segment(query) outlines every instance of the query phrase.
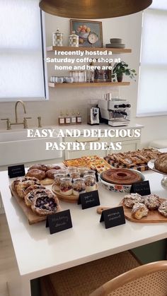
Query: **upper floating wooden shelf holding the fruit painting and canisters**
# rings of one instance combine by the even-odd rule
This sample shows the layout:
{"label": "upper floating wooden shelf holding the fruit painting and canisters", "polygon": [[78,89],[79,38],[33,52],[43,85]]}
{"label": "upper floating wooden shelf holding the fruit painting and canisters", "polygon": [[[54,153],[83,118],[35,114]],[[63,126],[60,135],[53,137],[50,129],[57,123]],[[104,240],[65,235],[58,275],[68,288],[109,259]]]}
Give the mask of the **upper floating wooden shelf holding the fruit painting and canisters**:
{"label": "upper floating wooden shelf holding the fruit painting and canisters", "polygon": [[108,52],[113,52],[113,54],[128,54],[132,52],[132,49],[129,48],[105,48],[105,47],[69,47],[69,46],[62,46],[62,47],[57,47],[57,46],[50,46],[47,47],[47,52],[54,52],[55,50],[61,51],[61,52],[74,52],[76,50],[81,50],[81,51],[88,51],[88,52],[95,52],[95,51],[100,51],[100,52],[105,52],[105,50],[108,50]]}

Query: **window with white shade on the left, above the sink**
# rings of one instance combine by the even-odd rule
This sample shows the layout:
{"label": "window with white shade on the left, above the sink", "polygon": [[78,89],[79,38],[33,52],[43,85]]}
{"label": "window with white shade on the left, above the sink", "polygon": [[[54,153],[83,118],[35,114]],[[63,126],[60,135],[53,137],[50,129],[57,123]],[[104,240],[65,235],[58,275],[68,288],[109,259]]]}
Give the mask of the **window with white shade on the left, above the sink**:
{"label": "window with white shade on the left, above the sink", "polygon": [[46,97],[38,0],[0,0],[0,101]]}

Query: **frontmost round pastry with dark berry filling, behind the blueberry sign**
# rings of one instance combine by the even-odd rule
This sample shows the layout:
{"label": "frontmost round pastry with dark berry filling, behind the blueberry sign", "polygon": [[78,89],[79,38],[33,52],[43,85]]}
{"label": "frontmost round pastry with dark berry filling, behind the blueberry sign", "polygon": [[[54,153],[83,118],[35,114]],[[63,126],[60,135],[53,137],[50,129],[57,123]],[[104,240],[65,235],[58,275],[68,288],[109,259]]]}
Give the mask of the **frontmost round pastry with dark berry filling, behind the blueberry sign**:
{"label": "frontmost round pastry with dark berry filling, behind the blueberry sign", "polygon": [[31,208],[38,215],[50,215],[57,212],[58,205],[59,201],[54,194],[44,192],[35,195]]}

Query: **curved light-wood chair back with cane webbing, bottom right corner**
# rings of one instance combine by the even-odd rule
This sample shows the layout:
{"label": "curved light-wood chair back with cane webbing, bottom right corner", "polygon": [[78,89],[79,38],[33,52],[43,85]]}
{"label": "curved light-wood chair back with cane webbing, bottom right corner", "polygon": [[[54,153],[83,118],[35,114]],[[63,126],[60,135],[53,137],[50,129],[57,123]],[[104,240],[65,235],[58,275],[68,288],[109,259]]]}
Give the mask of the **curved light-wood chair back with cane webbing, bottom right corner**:
{"label": "curved light-wood chair back with cane webbing, bottom right corner", "polygon": [[166,296],[167,261],[145,264],[100,286],[90,296]]}

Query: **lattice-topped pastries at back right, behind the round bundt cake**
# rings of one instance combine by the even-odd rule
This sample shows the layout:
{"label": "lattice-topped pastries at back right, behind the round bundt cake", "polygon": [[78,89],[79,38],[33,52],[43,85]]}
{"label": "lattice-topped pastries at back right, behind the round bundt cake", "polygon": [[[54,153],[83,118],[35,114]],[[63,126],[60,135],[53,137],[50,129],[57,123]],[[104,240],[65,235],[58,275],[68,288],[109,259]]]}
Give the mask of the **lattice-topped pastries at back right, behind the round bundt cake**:
{"label": "lattice-topped pastries at back right, behind the round bundt cake", "polygon": [[124,153],[113,153],[105,157],[105,160],[113,167],[136,168],[148,170],[147,162],[157,158],[162,153],[153,148]]}

